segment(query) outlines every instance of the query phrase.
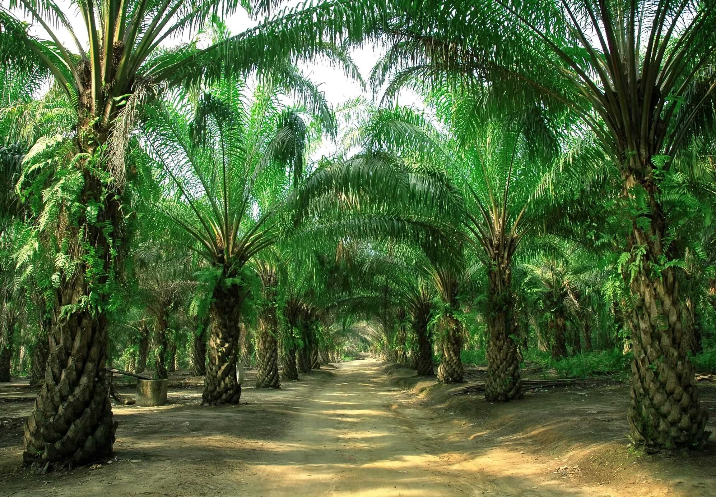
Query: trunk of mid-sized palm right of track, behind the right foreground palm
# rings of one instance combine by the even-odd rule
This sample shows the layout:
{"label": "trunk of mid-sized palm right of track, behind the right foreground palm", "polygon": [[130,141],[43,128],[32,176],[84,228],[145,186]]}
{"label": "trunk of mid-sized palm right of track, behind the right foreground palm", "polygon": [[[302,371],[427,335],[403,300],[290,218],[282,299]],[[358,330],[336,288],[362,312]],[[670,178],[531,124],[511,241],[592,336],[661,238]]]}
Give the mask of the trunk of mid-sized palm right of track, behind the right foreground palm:
{"label": "trunk of mid-sized palm right of track, behind the right foreground palm", "polygon": [[509,268],[488,272],[487,321],[490,339],[485,350],[488,360],[485,399],[490,402],[513,400],[523,395],[520,358],[517,344],[513,340],[515,322],[512,316],[514,302],[511,277]]}

